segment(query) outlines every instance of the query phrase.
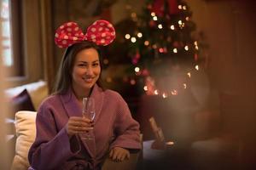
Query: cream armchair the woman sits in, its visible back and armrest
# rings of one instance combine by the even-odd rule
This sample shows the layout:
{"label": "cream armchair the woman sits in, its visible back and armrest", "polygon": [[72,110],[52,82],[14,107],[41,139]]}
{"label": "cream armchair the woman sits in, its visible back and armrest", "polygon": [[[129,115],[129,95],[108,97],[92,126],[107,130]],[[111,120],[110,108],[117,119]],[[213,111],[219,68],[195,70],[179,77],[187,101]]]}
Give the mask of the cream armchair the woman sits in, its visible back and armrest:
{"label": "cream armchair the woman sits in, its visible back and armrest", "polygon": [[[15,130],[16,134],[12,140],[15,144],[15,156],[12,162],[12,170],[25,170],[29,167],[27,154],[36,136],[36,111],[18,111],[15,114]],[[131,153],[129,160],[122,162],[111,161],[107,158],[104,162],[102,170],[125,169],[132,170],[138,168],[138,161],[141,158],[142,151]]]}

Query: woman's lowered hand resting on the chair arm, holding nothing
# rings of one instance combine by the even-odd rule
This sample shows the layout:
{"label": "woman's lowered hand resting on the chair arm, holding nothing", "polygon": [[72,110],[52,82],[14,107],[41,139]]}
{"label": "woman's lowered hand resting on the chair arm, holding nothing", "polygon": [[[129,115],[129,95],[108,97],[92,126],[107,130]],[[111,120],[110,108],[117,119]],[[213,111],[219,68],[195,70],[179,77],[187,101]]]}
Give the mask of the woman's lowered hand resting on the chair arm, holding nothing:
{"label": "woman's lowered hand resting on the chair arm, holding nothing", "polygon": [[113,161],[124,161],[125,159],[130,159],[130,152],[129,150],[125,150],[124,148],[114,147],[110,151],[109,157]]}

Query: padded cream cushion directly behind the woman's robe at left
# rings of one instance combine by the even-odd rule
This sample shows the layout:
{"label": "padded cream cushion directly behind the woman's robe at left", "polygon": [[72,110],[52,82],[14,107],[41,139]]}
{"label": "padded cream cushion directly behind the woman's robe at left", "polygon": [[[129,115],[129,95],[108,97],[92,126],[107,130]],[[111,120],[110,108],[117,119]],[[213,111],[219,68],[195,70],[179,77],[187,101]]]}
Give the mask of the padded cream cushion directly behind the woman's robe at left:
{"label": "padded cream cushion directly behind the woman's robe at left", "polygon": [[18,111],[15,114],[16,145],[12,170],[25,170],[29,167],[28,150],[36,138],[36,111]]}

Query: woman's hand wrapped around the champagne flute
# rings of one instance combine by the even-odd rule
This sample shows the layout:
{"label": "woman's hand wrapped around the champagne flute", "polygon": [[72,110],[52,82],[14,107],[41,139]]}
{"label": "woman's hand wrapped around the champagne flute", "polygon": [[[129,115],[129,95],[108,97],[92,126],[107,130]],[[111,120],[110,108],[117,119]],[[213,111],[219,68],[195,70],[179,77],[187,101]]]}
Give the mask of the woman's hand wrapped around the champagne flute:
{"label": "woman's hand wrapped around the champagne flute", "polygon": [[74,134],[88,132],[93,129],[90,119],[80,116],[71,116],[66,124],[67,135],[71,138]]}

